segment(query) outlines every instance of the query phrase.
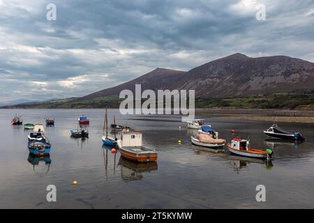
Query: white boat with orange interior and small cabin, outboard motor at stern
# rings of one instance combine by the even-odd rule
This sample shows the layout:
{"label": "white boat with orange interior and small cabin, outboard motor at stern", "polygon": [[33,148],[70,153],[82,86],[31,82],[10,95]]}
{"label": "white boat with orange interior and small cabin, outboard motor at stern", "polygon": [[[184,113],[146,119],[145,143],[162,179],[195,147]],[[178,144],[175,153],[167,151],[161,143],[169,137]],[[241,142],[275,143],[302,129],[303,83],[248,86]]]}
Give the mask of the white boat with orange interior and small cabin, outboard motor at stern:
{"label": "white boat with orange interior and small cabin, outboard motor at stern", "polygon": [[231,144],[227,144],[227,148],[230,153],[246,157],[271,160],[271,156],[273,155],[273,151],[271,151],[270,149],[267,149],[266,151],[261,151],[255,148],[251,148],[250,141],[246,139],[233,139],[231,141]]}

